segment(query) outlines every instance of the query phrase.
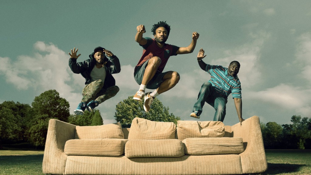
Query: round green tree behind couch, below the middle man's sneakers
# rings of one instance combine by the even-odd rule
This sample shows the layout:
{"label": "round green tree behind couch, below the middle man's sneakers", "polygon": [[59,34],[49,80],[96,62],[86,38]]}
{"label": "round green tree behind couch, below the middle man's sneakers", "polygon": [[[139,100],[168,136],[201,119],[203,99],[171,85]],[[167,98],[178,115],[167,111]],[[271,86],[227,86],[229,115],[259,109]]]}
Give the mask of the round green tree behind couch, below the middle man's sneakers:
{"label": "round green tree behind couch, below the middle man's sneakers", "polygon": [[131,127],[135,117],[145,118],[156,122],[174,122],[180,120],[173,113],[169,114],[169,107],[164,107],[158,99],[154,99],[148,113],[144,111],[142,102],[133,99],[133,96],[124,99],[116,105],[114,118],[122,127]]}

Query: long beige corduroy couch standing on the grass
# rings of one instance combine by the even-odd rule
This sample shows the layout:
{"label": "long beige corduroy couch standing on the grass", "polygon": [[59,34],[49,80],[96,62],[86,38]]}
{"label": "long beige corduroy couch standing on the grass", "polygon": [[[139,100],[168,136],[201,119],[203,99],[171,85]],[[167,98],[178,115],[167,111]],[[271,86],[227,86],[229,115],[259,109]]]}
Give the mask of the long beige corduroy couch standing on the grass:
{"label": "long beige corduroy couch standing on the grass", "polygon": [[[119,124],[102,125],[101,128],[78,127],[51,119],[44,150],[43,173],[208,175],[262,173],[267,169],[257,116],[246,119],[242,126],[240,123],[219,126],[217,122],[182,121],[177,129],[170,122],[134,120],[131,128],[121,128],[120,133],[114,130],[115,126],[120,127]],[[186,126],[189,124],[187,122],[190,125]],[[165,125],[162,126],[163,123]],[[205,125],[205,128],[200,125]],[[186,133],[189,126],[198,128],[198,133]],[[221,133],[221,130],[224,132]],[[106,135],[109,131],[113,132],[113,136]],[[206,134],[203,132],[208,132],[212,137],[196,135]]]}

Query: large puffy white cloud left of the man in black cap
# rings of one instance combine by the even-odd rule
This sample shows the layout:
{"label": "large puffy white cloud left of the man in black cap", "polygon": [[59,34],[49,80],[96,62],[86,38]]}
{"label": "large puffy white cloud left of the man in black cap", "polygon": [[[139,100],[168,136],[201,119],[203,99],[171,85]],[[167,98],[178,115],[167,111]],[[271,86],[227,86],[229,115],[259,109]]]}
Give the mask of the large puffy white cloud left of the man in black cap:
{"label": "large puffy white cloud left of the man in black cap", "polygon": [[34,89],[43,93],[55,89],[70,106],[77,105],[81,95],[74,90],[77,86],[82,90],[84,79],[73,75],[68,67],[68,55],[52,43],[38,41],[34,48],[33,56],[20,55],[15,61],[0,57],[0,73],[6,81],[19,90]]}

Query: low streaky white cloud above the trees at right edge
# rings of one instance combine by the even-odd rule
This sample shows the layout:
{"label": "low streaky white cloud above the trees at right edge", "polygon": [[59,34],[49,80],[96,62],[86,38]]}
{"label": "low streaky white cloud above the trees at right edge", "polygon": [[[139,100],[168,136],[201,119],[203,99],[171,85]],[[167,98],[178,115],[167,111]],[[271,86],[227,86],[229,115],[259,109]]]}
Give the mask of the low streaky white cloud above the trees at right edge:
{"label": "low streaky white cloud above the trees at right edge", "polygon": [[310,93],[311,89],[303,90],[297,86],[280,84],[266,90],[249,92],[247,96],[308,116],[311,113],[311,99],[306,94]]}

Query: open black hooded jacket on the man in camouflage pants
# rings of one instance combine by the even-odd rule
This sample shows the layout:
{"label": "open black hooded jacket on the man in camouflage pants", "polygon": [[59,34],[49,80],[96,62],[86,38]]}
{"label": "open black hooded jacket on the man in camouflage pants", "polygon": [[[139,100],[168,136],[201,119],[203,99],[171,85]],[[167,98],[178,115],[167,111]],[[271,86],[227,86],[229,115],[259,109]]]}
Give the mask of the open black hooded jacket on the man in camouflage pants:
{"label": "open black hooded jacket on the man in camouflage pants", "polygon": [[[85,78],[85,84],[88,85],[92,82],[91,71],[95,66],[94,52],[89,55],[90,59],[85,60],[84,62],[77,62],[76,58],[69,58],[69,67],[73,73],[81,74]],[[107,62],[105,65],[106,78],[104,81],[103,89],[107,89],[115,85],[114,77],[111,74],[119,73],[121,71],[121,66],[119,58],[113,55],[109,57],[110,60],[105,56],[104,62]]]}

